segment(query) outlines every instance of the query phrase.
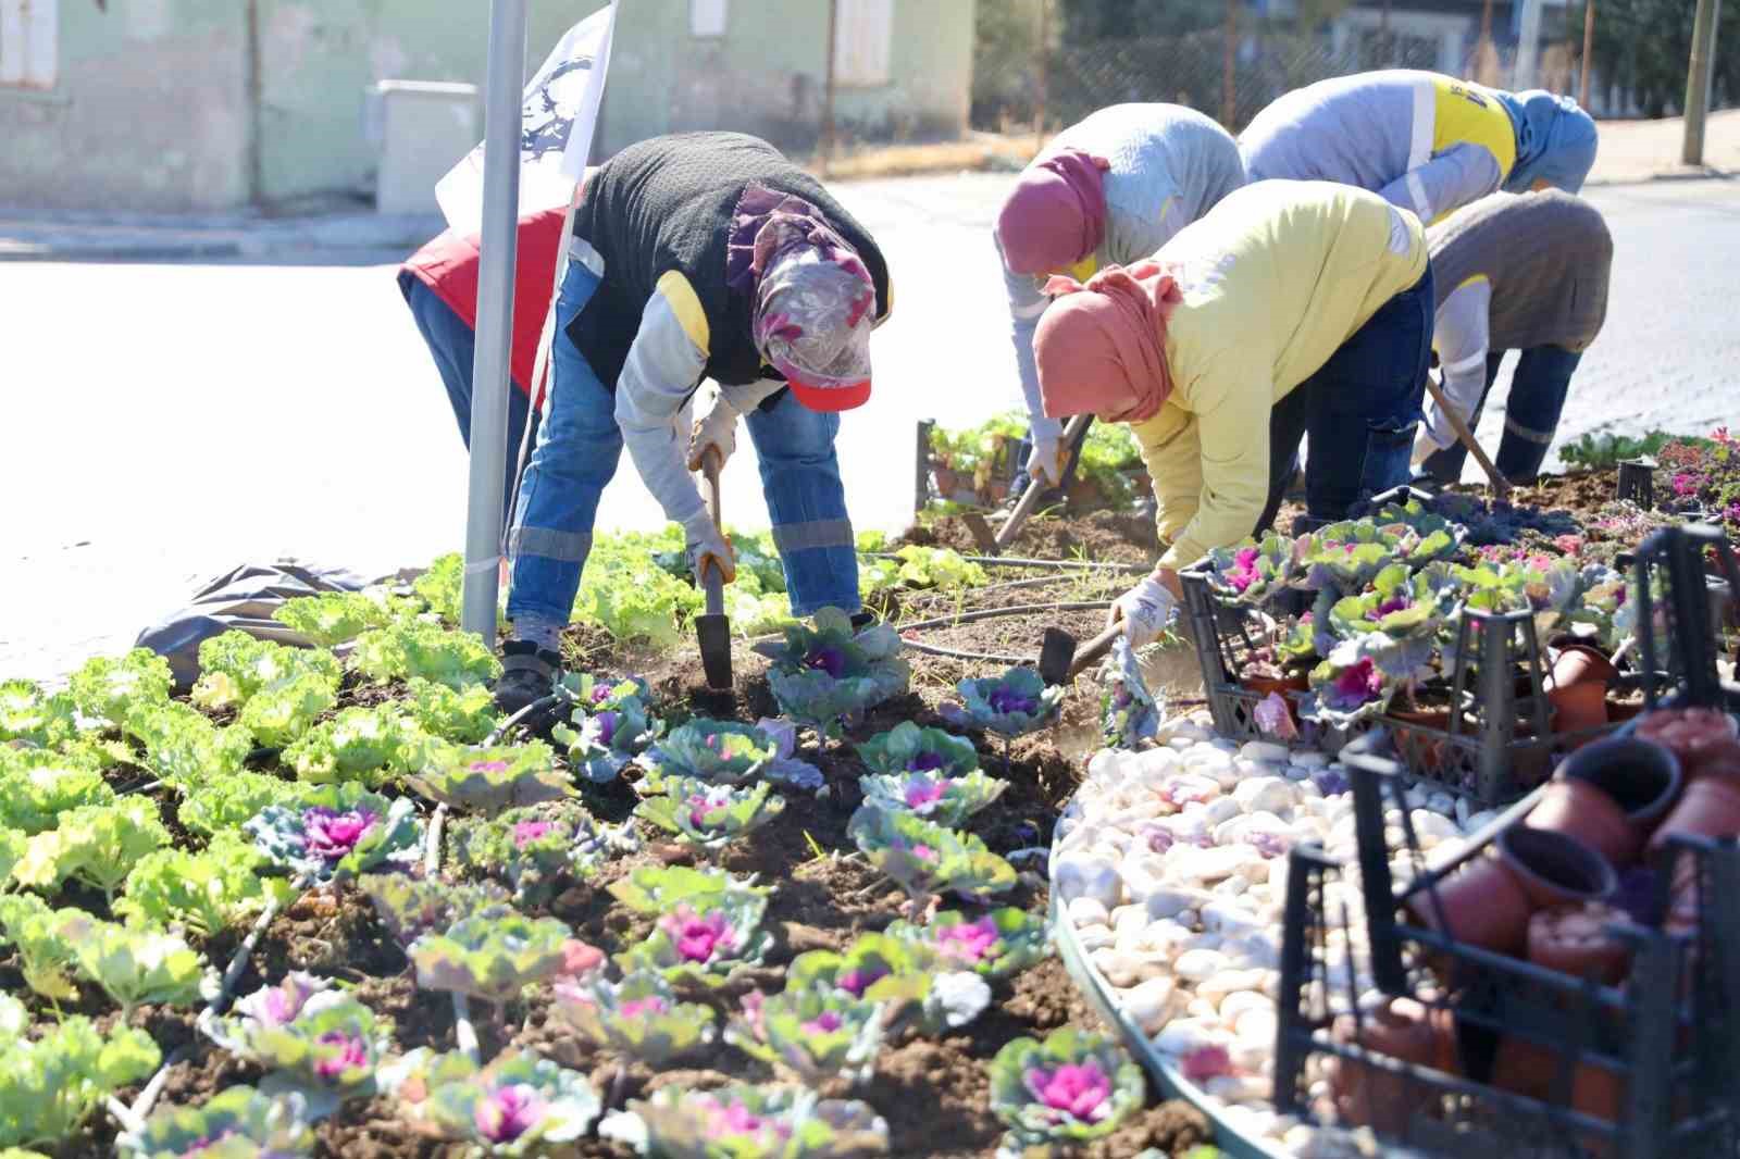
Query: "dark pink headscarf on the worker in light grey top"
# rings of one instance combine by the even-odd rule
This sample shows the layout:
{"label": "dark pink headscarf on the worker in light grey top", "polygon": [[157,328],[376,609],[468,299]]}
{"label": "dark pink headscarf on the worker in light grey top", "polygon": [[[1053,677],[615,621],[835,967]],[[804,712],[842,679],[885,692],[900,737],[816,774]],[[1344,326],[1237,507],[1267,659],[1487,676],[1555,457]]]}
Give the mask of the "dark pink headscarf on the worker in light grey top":
{"label": "dark pink headscarf on the worker in light grey top", "polygon": [[1063,148],[1021,172],[997,214],[997,240],[1011,273],[1075,265],[1105,240],[1105,171],[1112,162]]}

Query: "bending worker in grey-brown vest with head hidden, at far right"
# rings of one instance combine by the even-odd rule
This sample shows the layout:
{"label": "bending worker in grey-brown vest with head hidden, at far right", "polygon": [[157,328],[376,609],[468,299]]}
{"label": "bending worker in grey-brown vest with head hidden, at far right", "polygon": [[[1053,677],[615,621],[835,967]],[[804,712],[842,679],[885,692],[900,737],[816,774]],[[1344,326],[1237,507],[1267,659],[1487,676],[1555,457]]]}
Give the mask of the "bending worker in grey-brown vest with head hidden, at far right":
{"label": "bending worker in grey-brown vest with head hidden, at far right", "polygon": [[[1608,317],[1608,223],[1589,202],[1557,190],[1496,193],[1427,230],[1427,244],[1444,399],[1474,430],[1505,352],[1521,350],[1495,466],[1512,482],[1531,480],[1559,428],[1571,374]],[[1434,405],[1415,463],[1439,482],[1456,482],[1465,456]]]}

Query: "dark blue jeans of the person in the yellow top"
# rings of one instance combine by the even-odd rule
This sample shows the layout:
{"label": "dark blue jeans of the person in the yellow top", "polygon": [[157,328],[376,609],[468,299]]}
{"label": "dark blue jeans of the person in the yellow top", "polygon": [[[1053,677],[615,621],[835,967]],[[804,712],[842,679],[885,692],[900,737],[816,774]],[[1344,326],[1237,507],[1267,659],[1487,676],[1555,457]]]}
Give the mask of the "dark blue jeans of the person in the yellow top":
{"label": "dark blue jeans of the person in the yellow top", "polygon": [[1427,266],[1268,412],[1268,503],[1258,531],[1274,524],[1307,433],[1305,508],[1314,522],[1345,519],[1357,499],[1408,482],[1430,358]]}

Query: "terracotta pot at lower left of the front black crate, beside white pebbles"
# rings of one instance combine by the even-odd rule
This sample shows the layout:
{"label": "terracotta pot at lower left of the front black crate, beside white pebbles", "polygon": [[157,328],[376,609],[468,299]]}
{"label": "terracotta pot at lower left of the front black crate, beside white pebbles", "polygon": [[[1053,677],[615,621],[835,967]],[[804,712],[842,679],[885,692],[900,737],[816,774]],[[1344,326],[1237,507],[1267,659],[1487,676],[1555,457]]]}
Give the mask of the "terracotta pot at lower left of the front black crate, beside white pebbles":
{"label": "terracotta pot at lower left of the front black crate, beside white pebbles", "polygon": [[[1430,1067],[1444,1074],[1462,1074],[1456,1060],[1456,1020],[1448,1009],[1422,1006],[1413,999],[1390,999],[1373,1009],[1362,1023],[1350,1015],[1335,1020],[1340,1042],[1354,1042],[1376,1055]],[[1402,1135],[1432,1093],[1406,1077],[1338,1060],[1329,1077],[1342,1117],[1369,1126],[1383,1135]]]}

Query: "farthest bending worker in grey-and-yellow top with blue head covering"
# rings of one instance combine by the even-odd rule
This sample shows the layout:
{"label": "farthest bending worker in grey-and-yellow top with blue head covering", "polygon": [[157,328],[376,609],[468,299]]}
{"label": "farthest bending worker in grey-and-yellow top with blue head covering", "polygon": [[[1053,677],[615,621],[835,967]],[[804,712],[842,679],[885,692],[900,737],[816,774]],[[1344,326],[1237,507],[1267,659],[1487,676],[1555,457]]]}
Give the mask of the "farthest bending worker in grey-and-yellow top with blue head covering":
{"label": "farthest bending worker in grey-and-yellow top with blue head covering", "polygon": [[1596,122],[1571,97],[1413,70],[1295,89],[1239,134],[1251,181],[1340,181],[1437,221],[1495,190],[1575,193]]}

